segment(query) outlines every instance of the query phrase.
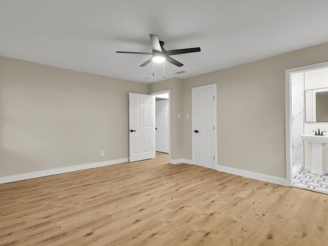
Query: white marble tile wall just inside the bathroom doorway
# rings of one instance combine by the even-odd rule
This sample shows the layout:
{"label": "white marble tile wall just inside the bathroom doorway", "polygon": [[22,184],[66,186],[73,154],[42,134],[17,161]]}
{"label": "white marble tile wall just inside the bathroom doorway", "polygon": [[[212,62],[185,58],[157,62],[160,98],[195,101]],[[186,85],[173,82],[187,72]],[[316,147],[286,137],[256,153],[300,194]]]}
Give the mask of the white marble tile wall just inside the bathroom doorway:
{"label": "white marble tile wall just inside the bathroom doorway", "polygon": [[292,74],[293,166],[304,165],[304,72]]}

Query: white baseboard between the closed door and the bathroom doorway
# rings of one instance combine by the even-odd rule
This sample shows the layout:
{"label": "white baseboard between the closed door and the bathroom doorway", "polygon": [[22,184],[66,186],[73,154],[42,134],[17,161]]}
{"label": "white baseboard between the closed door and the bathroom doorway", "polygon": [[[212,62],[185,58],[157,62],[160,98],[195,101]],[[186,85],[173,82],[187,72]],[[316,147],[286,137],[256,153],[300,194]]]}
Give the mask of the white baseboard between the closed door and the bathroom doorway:
{"label": "white baseboard between the closed door and the bathroom doorway", "polygon": [[235,174],[242,177],[253,178],[265,182],[276,183],[277,185],[281,185],[281,186],[288,186],[287,180],[284,178],[278,178],[278,177],[273,177],[273,176],[259,174],[259,173],[252,173],[240,169],[228,168],[223,166],[217,166],[216,170],[224,173]]}

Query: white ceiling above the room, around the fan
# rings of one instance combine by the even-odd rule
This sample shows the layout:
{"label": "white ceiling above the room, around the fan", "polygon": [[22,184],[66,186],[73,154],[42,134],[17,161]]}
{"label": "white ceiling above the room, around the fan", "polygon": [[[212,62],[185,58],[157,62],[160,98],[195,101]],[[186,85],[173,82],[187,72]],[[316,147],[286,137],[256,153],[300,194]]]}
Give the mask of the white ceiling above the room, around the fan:
{"label": "white ceiling above the room, around the fan", "polygon": [[[328,1],[1,1],[0,55],[153,83],[162,65],[139,67],[149,34],[174,55],[165,78],[188,78],[328,42]],[[186,73],[176,74],[176,72]],[[148,79],[146,79],[148,78]]]}

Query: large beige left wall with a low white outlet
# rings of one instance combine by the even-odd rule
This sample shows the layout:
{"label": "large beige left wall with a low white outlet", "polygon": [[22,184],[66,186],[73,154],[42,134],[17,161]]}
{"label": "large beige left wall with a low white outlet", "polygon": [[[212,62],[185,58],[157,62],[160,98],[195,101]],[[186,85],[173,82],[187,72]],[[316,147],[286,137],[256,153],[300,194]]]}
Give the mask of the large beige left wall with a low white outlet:
{"label": "large beige left wall with a low white outlet", "polygon": [[148,87],[0,57],[0,177],[127,158],[129,92]]}

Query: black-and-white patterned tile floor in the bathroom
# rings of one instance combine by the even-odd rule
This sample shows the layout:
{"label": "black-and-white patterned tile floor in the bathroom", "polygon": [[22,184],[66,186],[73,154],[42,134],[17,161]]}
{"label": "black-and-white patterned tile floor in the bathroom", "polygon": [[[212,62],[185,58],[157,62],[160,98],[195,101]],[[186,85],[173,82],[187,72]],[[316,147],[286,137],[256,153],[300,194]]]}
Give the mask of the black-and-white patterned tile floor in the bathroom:
{"label": "black-and-white patterned tile floor in the bathroom", "polygon": [[293,178],[293,186],[328,194],[328,174],[317,175],[308,170],[302,170]]}

